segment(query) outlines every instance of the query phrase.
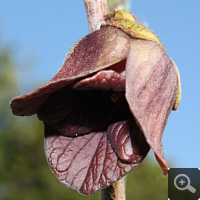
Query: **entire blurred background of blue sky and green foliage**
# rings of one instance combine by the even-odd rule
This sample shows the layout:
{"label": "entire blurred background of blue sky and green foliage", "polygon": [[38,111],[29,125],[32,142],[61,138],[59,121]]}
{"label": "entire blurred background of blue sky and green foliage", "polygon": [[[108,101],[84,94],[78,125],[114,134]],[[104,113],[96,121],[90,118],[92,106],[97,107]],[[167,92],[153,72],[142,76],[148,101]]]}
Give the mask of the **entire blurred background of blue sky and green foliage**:
{"label": "entire blurred background of blue sky and green foliage", "polygon": [[[182,99],[163,135],[171,167],[200,167],[200,2],[127,1],[176,62]],[[16,117],[10,100],[48,82],[70,47],[89,33],[83,1],[0,1],[0,199],[101,199],[61,184],[48,168],[42,122]],[[167,199],[167,177],[152,152],[126,176],[127,200]]]}

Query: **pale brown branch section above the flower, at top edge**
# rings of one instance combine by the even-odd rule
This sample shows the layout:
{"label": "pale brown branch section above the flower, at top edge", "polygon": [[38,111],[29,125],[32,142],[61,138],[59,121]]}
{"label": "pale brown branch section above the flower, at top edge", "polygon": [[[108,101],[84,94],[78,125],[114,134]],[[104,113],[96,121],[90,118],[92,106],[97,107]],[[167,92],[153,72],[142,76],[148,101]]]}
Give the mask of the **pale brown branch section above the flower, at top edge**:
{"label": "pale brown branch section above the flower, at top edge", "polygon": [[100,29],[100,25],[105,21],[105,16],[109,13],[106,0],[84,0],[88,18],[90,33]]}

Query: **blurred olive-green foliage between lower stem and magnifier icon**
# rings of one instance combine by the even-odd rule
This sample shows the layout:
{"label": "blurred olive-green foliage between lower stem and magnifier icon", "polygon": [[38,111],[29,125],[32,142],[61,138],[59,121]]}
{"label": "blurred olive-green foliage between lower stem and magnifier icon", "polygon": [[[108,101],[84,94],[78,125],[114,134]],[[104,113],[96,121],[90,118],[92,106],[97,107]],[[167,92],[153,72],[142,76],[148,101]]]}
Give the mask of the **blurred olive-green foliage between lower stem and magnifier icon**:
{"label": "blurred olive-green foliage between lower stem and magnifier icon", "polygon": [[126,185],[127,200],[166,200],[168,197],[168,178],[148,158],[128,174]]}

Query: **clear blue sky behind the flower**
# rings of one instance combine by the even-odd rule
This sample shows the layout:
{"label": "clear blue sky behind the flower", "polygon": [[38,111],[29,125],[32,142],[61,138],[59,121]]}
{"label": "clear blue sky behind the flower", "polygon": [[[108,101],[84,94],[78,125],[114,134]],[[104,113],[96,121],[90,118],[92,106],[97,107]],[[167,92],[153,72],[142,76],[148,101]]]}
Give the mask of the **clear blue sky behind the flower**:
{"label": "clear blue sky behind the flower", "polygon": [[[131,4],[131,12],[157,34],[181,75],[181,104],[171,113],[162,140],[165,156],[173,167],[200,167],[200,1]],[[81,0],[0,2],[1,42],[14,47],[23,65],[20,94],[51,79],[70,47],[88,33]]]}

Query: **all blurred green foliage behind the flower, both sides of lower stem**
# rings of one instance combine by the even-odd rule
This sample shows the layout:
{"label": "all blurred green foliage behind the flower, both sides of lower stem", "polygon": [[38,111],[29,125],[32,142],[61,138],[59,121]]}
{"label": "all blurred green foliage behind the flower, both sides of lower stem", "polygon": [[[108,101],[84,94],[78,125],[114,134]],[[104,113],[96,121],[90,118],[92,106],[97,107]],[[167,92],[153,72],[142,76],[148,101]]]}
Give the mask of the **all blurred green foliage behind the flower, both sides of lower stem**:
{"label": "all blurred green foliage behind the flower, both sides of lower stem", "polygon": [[[46,162],[42,123],[36,116],[23,118],[12,115],[9,102],[18,93],[16,70],[13,52],[1,44],[0,199],[101,199],[101,192],[85,197],[61,184]],[[126,193],[127,200],[165,200],[167,177],[163,177],[157,164],[146,159],[127,176]]]}

